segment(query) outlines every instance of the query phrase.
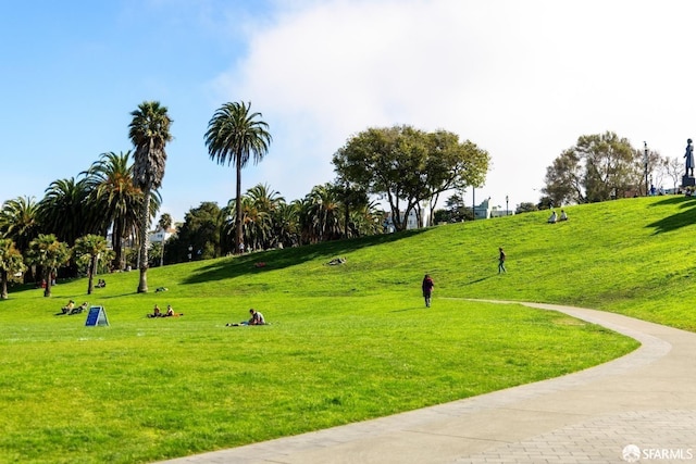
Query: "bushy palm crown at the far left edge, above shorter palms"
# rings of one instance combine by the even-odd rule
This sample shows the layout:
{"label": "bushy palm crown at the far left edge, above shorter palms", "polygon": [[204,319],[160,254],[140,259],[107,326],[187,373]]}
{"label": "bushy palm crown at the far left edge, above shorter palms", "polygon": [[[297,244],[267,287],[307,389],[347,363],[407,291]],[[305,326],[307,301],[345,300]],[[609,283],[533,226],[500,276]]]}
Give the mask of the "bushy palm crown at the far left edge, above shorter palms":
{"label": "bushy palm crown at the far left edge, above shorter palms", "polygon": [[20,252],[29,248],[40,231],[39,208],[34,197],[8,200],[0,210],[0,237],[14,241]]}

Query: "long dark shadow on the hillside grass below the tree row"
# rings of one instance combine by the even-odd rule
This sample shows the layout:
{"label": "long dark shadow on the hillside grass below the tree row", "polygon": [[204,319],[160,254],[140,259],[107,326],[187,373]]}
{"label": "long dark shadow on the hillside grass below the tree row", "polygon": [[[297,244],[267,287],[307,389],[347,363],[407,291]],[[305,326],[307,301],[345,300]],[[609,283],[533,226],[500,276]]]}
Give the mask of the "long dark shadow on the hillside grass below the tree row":
{"label": "long dark shadow on the hillside grass below the tree row", "polygon": [[[219,260],[208,266],[192,273],[184,284],[200,284],[211,280],[222,280],[240,275],[253,275],[271,269],[282,269],[295,266],[308,261],[325,260],[340,256],[362,248],[389,243],[403,238],[413,237],[427,229],[407,230],[402,233],[384,234],[357,239],[336,240],[325,243],[308,244],[284,250],[271,250],[260,253],[250,253],[243,256]],[[259,263],[263,263],[262,266]]]}

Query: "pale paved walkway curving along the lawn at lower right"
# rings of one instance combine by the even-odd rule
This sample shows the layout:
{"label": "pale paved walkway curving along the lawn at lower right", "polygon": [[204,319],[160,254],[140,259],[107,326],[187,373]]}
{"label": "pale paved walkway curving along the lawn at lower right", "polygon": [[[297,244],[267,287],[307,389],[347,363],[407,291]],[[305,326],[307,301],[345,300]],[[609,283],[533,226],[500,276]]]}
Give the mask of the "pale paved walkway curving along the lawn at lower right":
{"label": "pale paved walkway curving along the lawn at lower right", "polygon": [[170,464],[696,463],[696,334],[550,304],[641,341],[563,377]]}

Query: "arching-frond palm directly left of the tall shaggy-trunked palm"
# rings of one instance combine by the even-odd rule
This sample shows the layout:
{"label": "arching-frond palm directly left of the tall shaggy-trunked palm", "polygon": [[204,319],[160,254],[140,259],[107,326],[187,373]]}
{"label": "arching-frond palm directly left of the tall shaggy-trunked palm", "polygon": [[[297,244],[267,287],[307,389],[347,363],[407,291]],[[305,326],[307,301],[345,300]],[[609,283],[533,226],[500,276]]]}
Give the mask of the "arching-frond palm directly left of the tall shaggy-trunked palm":
{"label": "arching-frond palm directly left of the tall shaggy-trunked palm", "polygon": [[102,153],[88,171],[80,174],[86,176],[85,181],[90,190],[89,202],[92,204],[90,210],[96,213],[88,221],[95,223],[97,231],[104,236],[111,228],[113,263],[116,268],[123,269],[123,239],[136,229],[142,202],[140,189],[133,185],[130,151]]}

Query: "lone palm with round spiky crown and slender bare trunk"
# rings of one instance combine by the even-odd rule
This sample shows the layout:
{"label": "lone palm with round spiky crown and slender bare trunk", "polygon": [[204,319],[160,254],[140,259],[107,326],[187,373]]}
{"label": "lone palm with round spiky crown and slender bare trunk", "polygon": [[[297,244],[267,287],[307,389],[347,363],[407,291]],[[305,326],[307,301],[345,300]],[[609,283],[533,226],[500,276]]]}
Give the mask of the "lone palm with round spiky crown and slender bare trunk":
{"label": "lone palm with round spiky crown and slender bare trunk", "polygon": [[235,196],[235,253],[239,252],[241,243],[241,168],[253,156],[253,163],[269,152],[272,137],[269,125],[257,120],[261,113],[250,113],[251,103],[225,103],[208,123],[206,146],[211,160],[217,164],[235,163],[237,174],[237,189]]}

